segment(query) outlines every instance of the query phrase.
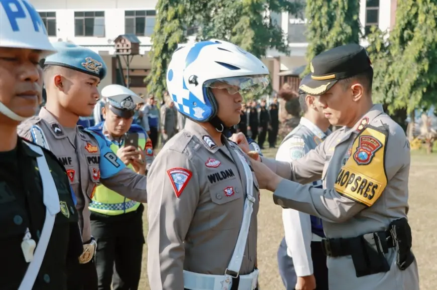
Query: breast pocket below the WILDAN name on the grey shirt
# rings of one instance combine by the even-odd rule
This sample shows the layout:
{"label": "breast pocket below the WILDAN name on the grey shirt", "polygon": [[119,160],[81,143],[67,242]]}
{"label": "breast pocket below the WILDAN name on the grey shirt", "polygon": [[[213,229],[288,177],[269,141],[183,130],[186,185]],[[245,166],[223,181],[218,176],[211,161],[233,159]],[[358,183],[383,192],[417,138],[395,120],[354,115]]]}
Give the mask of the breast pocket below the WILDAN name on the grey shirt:
{"label": "breast pocket below the WILDAN name on the grey shirt", "polygon": [[244,190],[240,180],[227,179],[211,186],[210,197],[209,228],[213,231],[239,228],[244,206]]}

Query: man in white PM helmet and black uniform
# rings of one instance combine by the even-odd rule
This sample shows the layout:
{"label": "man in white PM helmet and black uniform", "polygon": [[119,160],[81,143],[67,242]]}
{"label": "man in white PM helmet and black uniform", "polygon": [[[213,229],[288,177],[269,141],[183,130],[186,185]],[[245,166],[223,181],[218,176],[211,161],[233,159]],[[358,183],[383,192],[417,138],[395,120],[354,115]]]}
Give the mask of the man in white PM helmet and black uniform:
{"label": "man in white PM helmet and black uniform", "polygon": [[0,2],[0,288],[66,290],[82,253],[68,178],[51,152],[17,136],[42,101],[38,62],[56,50],[44,25],[35,29],[42,20],[33,6],[15,4]]}

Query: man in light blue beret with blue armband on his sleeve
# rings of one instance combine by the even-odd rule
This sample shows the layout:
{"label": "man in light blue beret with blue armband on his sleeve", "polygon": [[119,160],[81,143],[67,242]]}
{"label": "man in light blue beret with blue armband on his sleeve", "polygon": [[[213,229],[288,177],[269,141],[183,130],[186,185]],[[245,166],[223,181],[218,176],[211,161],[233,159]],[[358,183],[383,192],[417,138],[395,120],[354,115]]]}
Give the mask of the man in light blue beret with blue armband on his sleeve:
{"label": "man in light blue beret with blue armband on his sleeve", "polygon": [[89,201],[102,183],[131,200],[146,202],[146,177],[126,168],[108,147],[110,142],[76,127],[79,116],[89,116],[99,98],[97,84],[106,74],[101,57],[70,43],[57,42],[54,46],[58,52],[47,57],[44,66],[46,106],[38,116],[21,123],[18,133],[51,150],[66,168],[77,197],[84,242],[81,265],[68,285],[79,283],[84,289],[96,289],[96,243],[91,237]]}

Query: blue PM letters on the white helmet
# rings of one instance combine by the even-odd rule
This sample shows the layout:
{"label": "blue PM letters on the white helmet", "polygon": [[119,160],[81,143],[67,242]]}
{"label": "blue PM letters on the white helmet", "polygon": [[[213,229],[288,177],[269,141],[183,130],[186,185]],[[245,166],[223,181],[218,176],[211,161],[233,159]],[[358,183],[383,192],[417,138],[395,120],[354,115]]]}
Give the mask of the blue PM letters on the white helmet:
{"label": "blue PM letters on the white helmet", "polygon": [[[0,4],[8,17],[9,23],[14,32],[20,31],[19,19],[27,19],[30,17],[35,31],[40,32],[40,30],[42,30],[44,34],[47,35],[47,30],[41,17],[31,4],[20,0],[0,0]],[[27,11],[27,14],[25,10]]]}

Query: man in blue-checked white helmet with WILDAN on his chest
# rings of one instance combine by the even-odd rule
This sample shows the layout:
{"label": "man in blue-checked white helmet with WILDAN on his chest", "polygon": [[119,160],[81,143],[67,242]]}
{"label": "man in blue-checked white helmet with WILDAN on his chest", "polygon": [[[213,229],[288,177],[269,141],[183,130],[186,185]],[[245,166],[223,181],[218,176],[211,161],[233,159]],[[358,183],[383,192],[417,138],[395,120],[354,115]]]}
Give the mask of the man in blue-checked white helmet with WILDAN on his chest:
{"label": "man in blue-checked white helmet with WILDAN on his chest", "polygon": [[268,74],[259,59],[225,41],[173,54],[167,86],[188,119],[148,175],[152,290],[256,288],[258,185],[247,157],[222,132],[240,121],[241,88],[257,94]]}

